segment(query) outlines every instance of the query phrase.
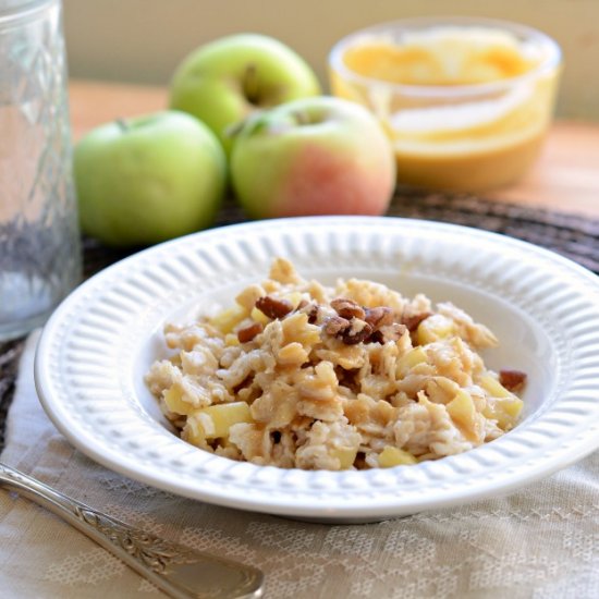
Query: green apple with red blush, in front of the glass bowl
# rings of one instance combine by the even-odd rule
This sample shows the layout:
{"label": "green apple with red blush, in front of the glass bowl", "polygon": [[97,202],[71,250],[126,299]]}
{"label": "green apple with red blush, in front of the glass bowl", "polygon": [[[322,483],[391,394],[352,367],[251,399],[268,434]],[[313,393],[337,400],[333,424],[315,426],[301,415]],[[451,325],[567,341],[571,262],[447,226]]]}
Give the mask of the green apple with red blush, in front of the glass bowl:
{"label": "green apple with red blush, in front of the glass bowl", "polygon": [[395,186],[395,159],[364,107],[320,96],[247,119],[237,132],[231,180],[255,218],[381,215]]}

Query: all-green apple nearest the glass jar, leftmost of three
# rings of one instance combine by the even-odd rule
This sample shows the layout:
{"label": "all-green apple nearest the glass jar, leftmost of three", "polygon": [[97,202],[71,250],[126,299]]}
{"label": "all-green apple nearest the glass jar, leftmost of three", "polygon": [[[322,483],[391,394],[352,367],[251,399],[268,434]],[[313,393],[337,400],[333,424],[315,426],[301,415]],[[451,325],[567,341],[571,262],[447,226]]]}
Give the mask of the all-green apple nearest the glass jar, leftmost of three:
{"label": "all-green apple nearest the glass jar, leftmost of three", "polygon": [[147,245],[212,223],[227,158],[206,125],[166,110],[89,132],[75,146],[74,176],[84,233]]}

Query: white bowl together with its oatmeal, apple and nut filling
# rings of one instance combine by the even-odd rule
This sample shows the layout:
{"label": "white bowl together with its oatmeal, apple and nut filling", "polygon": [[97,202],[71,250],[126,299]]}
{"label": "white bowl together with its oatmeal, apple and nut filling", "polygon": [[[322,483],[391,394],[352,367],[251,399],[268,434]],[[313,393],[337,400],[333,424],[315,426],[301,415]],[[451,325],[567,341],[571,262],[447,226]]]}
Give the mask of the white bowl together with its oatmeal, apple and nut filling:
{"label": "white bowl together with its oatmeal, apple and nut filling", "polygon": [[252,222],[136,254],[47,323],[40,401],[187,498],[372,522],[513,491],[598,447],[599,283],[542,248],[391,218]]}

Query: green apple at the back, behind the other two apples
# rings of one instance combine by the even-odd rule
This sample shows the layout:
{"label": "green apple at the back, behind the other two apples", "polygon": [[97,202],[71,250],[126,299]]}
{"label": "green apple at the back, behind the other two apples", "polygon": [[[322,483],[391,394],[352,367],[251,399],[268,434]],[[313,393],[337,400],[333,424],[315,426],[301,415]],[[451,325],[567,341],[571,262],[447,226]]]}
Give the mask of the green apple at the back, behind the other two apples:
{"label": "green apple at the back, behind the other two apples", "polygon": [[200,46],[183,60],[171,82],[171,108],[204,121],[231,150],[228,127],[257,109],[317,96],[310,66],[281,41],[237,34]]}

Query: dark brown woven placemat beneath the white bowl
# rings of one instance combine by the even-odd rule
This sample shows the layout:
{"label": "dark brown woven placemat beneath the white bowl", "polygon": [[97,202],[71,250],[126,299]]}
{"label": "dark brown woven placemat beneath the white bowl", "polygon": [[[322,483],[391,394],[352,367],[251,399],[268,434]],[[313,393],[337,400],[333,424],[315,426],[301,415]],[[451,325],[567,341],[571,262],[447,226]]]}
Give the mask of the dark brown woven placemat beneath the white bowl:
{"label": "dark brown woven placemat beneath the white bowl", "polygon": [[[473,195],[448,195],[407,187],[398,190],[388,215],[451,222],[510,235],[552,249],[599,274],[599,219],[481,199]],[[220,211],[215,225],[244,220],[243,211],[229,203]],[[86,239],[83,242],[84,276],[90,277],[138,249],[107,248]],[[23,340],[0,343],[0,451],[22,349]]]}

